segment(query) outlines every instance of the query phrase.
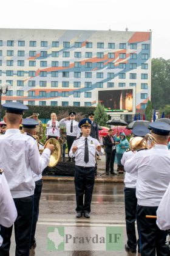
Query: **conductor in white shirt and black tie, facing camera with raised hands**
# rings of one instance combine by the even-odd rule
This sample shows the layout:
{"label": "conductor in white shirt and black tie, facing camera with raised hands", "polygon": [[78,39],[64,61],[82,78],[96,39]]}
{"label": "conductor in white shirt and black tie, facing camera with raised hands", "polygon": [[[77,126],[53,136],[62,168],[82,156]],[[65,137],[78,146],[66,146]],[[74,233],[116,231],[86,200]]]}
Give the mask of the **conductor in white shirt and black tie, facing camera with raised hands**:
{"label": "conductor in white shirt and black tie, facing camera with raised hands", "polygon": [[[100,143],[90,137],[91,121],[84,118],[78,124],[82,137],[73,141],[70,157],[75,157],[75,191],[77,218],[90,218],[90,204],[95,183],[95,154],[103,155]],[[83,204],[84,196],[84,204]]]}

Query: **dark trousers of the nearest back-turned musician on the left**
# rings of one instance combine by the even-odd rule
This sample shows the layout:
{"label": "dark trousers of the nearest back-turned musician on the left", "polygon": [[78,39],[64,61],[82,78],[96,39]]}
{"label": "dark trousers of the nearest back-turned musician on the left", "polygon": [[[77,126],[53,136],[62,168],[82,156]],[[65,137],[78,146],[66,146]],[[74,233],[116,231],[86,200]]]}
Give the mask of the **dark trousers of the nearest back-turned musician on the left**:
{"label": "dark trousers of the nearest back-turned musician on the left", "polygon": [[[33,216],[33,196],[15,198],[16,210],[18,216],[14,223],[15,227],[15,242],[16,256],[29,256],[30,249],[30,234],[32,229]],[[12,227],[1,226],[1,236],[3,238],[2,246],[0,247],[1,256],[9,256],[10,238],[12,236]]]}

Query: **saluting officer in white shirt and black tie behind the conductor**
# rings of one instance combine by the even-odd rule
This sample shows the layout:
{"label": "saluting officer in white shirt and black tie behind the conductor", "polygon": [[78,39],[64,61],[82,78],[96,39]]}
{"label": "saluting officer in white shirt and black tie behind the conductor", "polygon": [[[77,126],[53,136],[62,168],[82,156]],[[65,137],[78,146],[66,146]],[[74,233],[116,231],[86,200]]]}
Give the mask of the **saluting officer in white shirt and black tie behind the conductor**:
{"label": "saluting officer in white shirt and black tie behind the conductor", "polygon": [[[76,113],[72,111],[69,113],[69,116],[67,116],[67,118],[63,118],[59,122],[60,124],[66,124],[68,155],[73,141],[80,136],[80,129],[78,128],[78,122],[75,121],[75,115]],[[70,155],[68,161],[71,161]]]}

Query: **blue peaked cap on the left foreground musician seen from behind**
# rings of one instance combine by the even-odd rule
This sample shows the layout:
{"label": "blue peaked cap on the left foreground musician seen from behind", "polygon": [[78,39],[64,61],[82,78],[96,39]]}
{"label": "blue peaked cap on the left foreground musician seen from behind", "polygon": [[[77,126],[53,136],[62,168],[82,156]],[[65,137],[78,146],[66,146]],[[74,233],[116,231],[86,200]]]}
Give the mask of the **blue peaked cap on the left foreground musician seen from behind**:
{"label": "blue peaked cap on the left foreground musician seen from behind", "polygon": [[9,102],[2,105],[2,107],[6,108],[7,113],[13,113],[18,115],[23,115],[25,110],[29,108],[24,104],[17,103],[17,102]]}

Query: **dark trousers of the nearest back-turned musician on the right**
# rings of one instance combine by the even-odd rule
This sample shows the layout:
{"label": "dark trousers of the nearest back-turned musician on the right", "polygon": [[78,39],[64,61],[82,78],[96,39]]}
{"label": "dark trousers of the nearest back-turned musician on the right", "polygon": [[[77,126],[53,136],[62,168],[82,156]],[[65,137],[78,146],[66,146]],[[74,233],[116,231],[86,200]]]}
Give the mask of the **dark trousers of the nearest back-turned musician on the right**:
{"label": "dark trousers of the nearest back-turned musician on the right", "polygon": [[169,248],[165,244],[167,232],[158,228],[156,219],[146,218],[146,215],[156,215],[157,208],[137,205],[141,256],[155,256],[156,252],[157,256],[169,255]]}

